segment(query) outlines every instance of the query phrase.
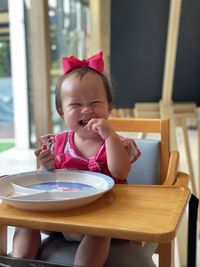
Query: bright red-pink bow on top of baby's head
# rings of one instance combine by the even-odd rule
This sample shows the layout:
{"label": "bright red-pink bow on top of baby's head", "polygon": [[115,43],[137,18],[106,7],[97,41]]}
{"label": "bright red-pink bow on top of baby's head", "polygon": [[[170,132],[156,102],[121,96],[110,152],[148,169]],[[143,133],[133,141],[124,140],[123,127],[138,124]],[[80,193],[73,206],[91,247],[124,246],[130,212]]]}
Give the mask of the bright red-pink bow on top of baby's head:
{"label": "bright red-pink bow on top of baby's head", "polygon": [[100,51],[96,55],[89,58],[80,60],[74,56],[62,58],[62,65],[64,74],[70,72],[71,70],[78,69],[81,67],[89,67],[98,72],[103,72],[104,62],[103,62],[103,52]]}

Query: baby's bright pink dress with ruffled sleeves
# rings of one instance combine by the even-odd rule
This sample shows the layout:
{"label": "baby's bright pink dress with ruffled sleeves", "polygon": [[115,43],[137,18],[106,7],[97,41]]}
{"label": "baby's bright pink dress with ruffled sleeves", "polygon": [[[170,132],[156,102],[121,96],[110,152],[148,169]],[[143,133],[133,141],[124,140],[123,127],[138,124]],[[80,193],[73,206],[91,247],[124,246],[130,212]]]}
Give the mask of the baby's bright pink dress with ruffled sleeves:
{"label": "baby's bright pink dress with ruffled sleeves", "polygon": [[[53,146],[52,149],[55,154],[55,168],[56,169],[76,169],[76,170],[86,170],[104,173],[108,176],[111,176],[111,173],[107,166],[106,158],[106,148],[105,142],[102,142],[97,153],[90,157],[86,158],[80,154],[76,146],[74,145],[74,132],[61,132],[57,135],[46,135],[40,138],[45,140],[51,140]],[[120,136],[120,139],[127,149],[130,155],[130,161],[133,163],[139,156],[140,151],[137,148],[133,139],[123,138]],[[125,184],[127,180],[118,180],[115,177],[112,177],[116,184]]]}

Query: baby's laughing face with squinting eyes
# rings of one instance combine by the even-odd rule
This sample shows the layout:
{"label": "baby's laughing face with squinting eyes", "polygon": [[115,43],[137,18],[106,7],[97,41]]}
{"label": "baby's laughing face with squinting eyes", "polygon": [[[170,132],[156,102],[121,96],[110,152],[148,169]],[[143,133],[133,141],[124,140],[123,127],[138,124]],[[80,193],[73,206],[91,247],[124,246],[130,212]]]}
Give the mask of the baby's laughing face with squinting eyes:
{"label": "baby's laughing face with squinting eyes", "polygon": [[89,134],[84,128],[89,120],[107,119],[112,109],[102,79],[91,72],[82,78],[76,73],[66,77],[61,84],[60,99],[59,113],[69,128],[81,137],[87,137]]}

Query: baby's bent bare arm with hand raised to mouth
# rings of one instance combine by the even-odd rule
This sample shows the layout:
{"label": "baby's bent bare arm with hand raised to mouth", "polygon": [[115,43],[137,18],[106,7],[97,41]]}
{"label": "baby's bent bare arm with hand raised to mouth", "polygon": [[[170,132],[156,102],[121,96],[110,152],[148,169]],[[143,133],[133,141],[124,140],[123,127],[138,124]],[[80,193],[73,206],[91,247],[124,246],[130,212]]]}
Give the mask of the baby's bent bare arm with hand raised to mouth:
{"label": "baby's bent bare arm with hand raised to mouth", "polygon": [[131,160],[127,150],[115,131],[105,119],[92,119],[88,130],[98,132],[105,140],[108,169],[113,177],[119,180],[127,178],[131,168]]}

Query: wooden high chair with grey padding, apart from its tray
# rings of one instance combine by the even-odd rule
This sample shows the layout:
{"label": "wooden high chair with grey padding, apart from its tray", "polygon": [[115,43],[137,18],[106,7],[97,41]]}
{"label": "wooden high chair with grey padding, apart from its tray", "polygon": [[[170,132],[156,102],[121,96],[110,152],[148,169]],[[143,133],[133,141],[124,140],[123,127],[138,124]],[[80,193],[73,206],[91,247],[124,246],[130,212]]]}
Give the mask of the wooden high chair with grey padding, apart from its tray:
{"label": "wooden high chair with grey padding, apart from its tray", "polygon": [[[133,133],[134,135],[136,133],[159,134],[156,140],[135,139],[142,155],[133,164],[128,177],[129,183],[187,186],[188,175],[177,171],[179,153],[170,151],[169,120],[110,118],[109,122],[115,131],[128,132],[129,137],[131,133],[132,135]],[[148,180],[146,180],[147,177]],[[156,247],[157,244],[138,245],[125,240],[114,240],[105,267],[155,266],[152,255]],[[75,254],[76,248],[76,242],[67,242],[63,237],[55,234],[45,240],[38,257],[40,260],[64,263],[68,262],[66,254],[69,250],[71,254]],[[160,267],[174,266],[173,241],[170,244],[159,244],[156,252],[159,254]],[[119,263],[120,259],[123,259],[121,263]]]}

